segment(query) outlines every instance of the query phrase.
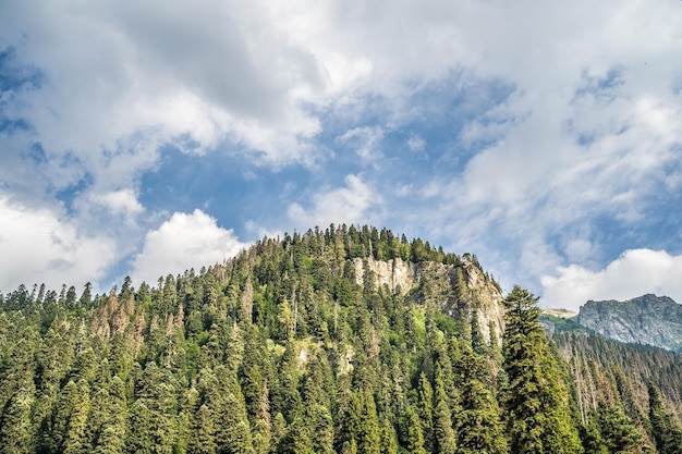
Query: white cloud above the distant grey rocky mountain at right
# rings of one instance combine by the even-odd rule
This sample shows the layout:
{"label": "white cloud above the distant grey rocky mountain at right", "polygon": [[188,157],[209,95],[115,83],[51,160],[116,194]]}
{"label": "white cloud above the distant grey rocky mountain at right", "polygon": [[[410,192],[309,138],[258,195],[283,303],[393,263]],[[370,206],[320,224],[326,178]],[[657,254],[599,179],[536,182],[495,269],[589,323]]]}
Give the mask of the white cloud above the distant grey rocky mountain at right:
{"label": "white cloud above the distant grey rocky mountain at right", "polygon": [[626,300],[647,293],[682,303],[682,256],[665,250],[631,249],[606,268],[592,271],[579,265],[544,275],[541,304],[577,310],[588,299]]}

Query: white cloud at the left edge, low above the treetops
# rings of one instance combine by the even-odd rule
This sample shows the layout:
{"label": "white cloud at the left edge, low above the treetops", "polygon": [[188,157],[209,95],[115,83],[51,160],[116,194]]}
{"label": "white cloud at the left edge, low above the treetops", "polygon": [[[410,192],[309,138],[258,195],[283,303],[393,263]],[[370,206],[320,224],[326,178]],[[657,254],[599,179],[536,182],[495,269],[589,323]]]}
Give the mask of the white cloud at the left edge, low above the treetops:
{"label": "white cloud at the left edge, low above the treetops", "polygon": [[[97,285],[118,259],[107,236],[87,236],[47,208],[31,208],[0,195],[0,291],[20,284]],[[27,281],[27,279],[29,281]]]}

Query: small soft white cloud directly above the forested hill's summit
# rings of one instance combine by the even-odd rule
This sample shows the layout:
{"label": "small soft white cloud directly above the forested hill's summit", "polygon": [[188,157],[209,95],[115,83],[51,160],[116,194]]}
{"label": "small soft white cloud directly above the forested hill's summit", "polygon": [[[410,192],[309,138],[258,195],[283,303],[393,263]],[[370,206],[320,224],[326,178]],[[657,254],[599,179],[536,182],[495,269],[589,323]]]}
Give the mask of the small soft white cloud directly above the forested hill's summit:
{"label": "small soft white cloud directly above the forested hill's summit", "polygon": [[294,225],[305,230],[315,225],[325,228],[331,223],[370,224],[373,219],[378,218],[376,210],[381,201],[376,191],[360,176],[346,175],[345,187],[316,193],[308,209],[292,204],[287,213]]}

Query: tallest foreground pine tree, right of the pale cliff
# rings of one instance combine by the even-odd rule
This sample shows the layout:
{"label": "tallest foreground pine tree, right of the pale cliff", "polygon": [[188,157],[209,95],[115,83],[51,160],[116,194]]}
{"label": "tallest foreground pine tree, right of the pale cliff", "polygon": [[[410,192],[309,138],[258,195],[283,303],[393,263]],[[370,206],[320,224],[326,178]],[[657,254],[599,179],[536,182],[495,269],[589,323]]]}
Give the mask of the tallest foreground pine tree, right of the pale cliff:
{"label": "tallest foreground pine tree, right of the pale cliff", "polygon": [[581,453],[582,446],[550,355],[537,297],[515,285],[504,299],[503,395],[507,432],[513,453]]}

